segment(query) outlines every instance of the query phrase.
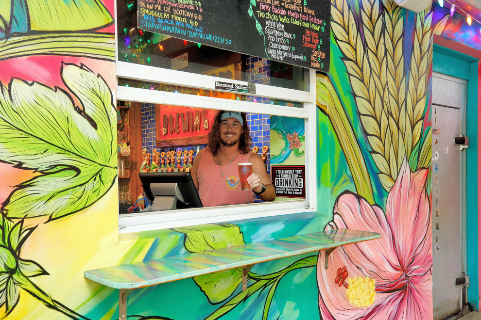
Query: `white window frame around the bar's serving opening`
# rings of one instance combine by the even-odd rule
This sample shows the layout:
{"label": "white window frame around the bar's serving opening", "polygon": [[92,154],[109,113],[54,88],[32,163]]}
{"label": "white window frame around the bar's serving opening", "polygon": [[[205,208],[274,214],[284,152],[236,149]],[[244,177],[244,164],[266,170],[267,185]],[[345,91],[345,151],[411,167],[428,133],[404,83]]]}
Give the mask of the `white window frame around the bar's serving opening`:
{"label": "white window frame around the bar's serving opening", "polygon": [[[117,9],[117,6],[115,7]],[[116,13],[117,16],[117,13]],[[166,83],[183,87],[221,91],[214,87],[214,81],[225,81],[206,75],[183,71],[163,69],[159,67],[120,62],[117,47],[116,22],[116,73],[119,78],[141,80],[147,82]],[[247,85],[245,81],[228,80],[229,82]],[[305,166],[306,166],[306,199],[286,200],[271,203],[254,203],[232,205],[226,207],[180,209],[172,211],[156,211],[149,213],[132,213],[119,215],[119,233],[140,232],[166,229],[197,224],[220,223],[233,220],[261,218],[299,212],[312,212],[317,208],[317,172],[316,172],[316,74],[309,70],[309,91],[292,90],[269,85],[255,84],[256,94],[253,96],[301,102],[302,108],[277,106],[249,101],[195,96],[172,92],[119,86],[116,84],[116,99],[141,103],[178,105],[195,108],[242,111],[270,114],[305,119]]]}

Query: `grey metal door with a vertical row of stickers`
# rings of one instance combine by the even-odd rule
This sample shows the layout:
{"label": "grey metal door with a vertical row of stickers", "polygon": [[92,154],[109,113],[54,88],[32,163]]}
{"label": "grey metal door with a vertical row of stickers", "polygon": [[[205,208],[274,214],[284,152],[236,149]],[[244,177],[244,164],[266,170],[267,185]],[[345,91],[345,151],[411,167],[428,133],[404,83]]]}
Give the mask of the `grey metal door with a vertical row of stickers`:
{"label": "grey metal door with a vertical row of stickers", "polygon": [[454,137],[465,130],[466,81],[433,73],[432,78],[432,298],[434,320],[458,313],[465,288],[465,151]]}

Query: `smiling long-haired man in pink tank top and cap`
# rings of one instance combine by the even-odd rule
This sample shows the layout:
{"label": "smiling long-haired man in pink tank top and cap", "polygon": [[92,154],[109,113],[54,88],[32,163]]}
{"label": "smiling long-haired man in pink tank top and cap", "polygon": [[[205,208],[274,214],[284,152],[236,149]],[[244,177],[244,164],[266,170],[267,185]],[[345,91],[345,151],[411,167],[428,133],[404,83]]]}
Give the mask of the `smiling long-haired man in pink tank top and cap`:
{"label": "smiling long-haired man in pink tank top and cap", "polygon": [[[217,112],[208,146],[199,151],[192,167],[192,178],[204,207],[235,205],[261,200],[273,201],[275,189],[264,161],[251,151],[252,139],[244,112]],[[251,162],[253,174],[247,178],[251,190],[240,189],[238,163]]]}

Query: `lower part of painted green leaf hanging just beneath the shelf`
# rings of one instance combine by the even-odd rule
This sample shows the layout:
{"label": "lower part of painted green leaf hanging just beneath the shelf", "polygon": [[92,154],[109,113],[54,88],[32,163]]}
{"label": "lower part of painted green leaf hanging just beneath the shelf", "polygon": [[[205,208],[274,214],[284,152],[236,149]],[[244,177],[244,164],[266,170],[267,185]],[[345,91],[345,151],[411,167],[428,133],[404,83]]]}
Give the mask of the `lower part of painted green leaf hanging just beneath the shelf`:
{"label": "lower part of painted green leaf hanging just beneath the shelf", "polygon": [[242,283],[242,268],[198,275],[194,281],[211,304],[218,304],[230,297]]}

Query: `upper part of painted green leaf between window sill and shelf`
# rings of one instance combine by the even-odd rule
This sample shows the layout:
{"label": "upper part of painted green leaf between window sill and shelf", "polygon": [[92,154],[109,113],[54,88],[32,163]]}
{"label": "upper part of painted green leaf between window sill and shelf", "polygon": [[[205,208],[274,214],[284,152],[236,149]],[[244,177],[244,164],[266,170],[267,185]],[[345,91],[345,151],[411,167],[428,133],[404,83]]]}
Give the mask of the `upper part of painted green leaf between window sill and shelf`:
{"label": "upper part of painted green leaf between window sill and shelf", "polygon": [[203,252],[244,244],[242,232],[235,224],[202,224],[172,230],[185,233],[184,247],[189,252]]}

